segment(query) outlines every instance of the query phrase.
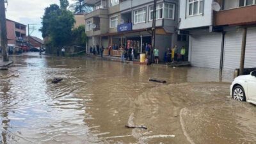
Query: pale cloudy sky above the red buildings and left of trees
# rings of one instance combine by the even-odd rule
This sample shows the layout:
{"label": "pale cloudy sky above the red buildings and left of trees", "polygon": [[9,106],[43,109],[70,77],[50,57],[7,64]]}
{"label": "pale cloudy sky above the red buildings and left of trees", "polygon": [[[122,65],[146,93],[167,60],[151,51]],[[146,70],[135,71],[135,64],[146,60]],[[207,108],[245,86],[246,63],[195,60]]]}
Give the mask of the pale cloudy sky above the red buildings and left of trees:
{"label": "pale cloudy sky above the red buildings and left of trees", "polygon": [[[74,3],[68,0],[69,3]],[[44,15],[44,9],[50,4],[60,4],[59,0],[8,0],[6,6],[6,18],[20,22],[21,24],[36,24],[36,30],[31,36],[42,38],[42,33],[38,31],[41,28],[41,21]],[[27,28],[28,29],[28,28]],[[27,33],[28,35],[28,33]]]}

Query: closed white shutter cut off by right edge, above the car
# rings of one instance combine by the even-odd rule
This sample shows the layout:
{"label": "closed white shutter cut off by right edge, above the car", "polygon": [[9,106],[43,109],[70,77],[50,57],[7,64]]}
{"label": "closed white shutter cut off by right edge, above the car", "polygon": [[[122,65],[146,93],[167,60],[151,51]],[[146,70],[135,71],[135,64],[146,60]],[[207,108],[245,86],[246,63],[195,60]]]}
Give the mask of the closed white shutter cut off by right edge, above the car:
{"label": "closed white shutter cut off by right edge, above the car", "polygon": [[244,67],[256,67],[256,28],[248,28],[247,31]]}

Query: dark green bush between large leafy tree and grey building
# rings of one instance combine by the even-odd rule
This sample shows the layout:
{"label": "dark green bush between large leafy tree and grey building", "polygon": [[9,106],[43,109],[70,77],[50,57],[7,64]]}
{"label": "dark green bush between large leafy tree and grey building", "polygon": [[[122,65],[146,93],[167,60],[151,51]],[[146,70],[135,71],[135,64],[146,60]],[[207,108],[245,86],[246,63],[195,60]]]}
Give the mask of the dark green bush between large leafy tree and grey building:
{"label": "dark green bush between large leafy tree and grey building", "polygon": [[87,42],[87,36],[85,33],[84,25],[74,28],[72,31],[72,44],[85,47]]}

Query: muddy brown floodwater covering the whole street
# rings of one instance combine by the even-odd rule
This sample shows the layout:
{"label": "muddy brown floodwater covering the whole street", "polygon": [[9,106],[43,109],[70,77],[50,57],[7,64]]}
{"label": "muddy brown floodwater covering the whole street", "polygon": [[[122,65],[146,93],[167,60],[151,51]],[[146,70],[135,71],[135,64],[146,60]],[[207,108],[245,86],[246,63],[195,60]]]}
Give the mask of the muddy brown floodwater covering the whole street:
{"label": "muddy brown floodwater covering the whole street", "polygon": [[0,72],[0,143],[256,143],[256,107],[230,99],[232,72],[220,82],[206,68],[37,53],[12,60]]}

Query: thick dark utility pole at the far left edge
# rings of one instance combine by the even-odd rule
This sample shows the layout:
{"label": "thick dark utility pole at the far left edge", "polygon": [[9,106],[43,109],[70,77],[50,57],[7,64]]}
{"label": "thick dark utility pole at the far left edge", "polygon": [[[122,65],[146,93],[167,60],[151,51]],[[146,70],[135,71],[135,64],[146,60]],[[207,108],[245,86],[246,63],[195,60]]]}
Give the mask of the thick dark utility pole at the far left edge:
{"label": "thick dark utility pole at the far left edge", "polygon": [[1,47],[3,61],[9,61],[7,51],[7,30],[6,30],[6,16],[5,16],[5,0],[0,0],[0,33],[1,33]]}

